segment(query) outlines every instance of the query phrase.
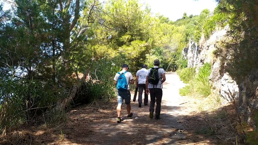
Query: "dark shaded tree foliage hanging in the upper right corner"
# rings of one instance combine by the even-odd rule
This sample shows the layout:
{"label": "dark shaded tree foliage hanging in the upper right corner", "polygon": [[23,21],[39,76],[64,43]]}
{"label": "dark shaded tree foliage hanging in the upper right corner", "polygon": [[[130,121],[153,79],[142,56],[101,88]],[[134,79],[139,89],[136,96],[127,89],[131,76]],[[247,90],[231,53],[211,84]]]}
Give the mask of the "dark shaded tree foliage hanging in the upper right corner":
{"label": "dark shaded tree foliage hanging in the upper right corner", "polygon": [[220,57],[224,61],[230,56],[231,59],[228,61],[233,69],[228,71],[237,80],[241,80],[258,68],[256,65],[258,20],[254,18],[258,12],[256,7],[258,2],[255,0],[219,0],[219,2],[220,11],[229,15],[228,24],[231,30],[230,40],[220,47]]}

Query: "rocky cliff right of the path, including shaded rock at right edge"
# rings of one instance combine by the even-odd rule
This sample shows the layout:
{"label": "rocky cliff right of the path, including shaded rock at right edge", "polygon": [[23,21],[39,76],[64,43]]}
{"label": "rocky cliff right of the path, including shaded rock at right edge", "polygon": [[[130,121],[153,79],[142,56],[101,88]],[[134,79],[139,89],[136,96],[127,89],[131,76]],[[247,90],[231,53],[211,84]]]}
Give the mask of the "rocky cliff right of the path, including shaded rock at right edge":
{"label": "rocky cliff right of the path, including shaded rock at right edge", "polygon": [[[236,80],[230,75],[229,62],[221,62],[213,54],[216,45],[223,42],[229,27],[214,32],[209,40],[204,38],[200,40],[199,46],[196,42],[189,41],[188,65],[187,67],[196,67],[196,72],[205,63],[212,64],[212,73],[210,74],[210,83],[214,91],[218,91],[224,98],[224,104],[228,101],[237,101],[239,114],[242,120],[248,123],[252,122],[252,113],[258,109],[258,70],[250,72],[249,76],[241,80]],[[184,49],[183,51],[186,51]],[[184,52],[184,55],[186,52]],[[184,57],[185,58],[185,57]]]}

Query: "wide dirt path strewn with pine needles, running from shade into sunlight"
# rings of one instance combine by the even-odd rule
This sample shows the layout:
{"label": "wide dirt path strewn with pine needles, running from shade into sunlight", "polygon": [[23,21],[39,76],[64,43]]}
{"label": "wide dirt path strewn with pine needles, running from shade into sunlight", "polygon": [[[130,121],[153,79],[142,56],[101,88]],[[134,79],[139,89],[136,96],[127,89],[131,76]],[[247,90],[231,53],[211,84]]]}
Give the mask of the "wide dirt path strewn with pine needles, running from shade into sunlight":
{"label": "wide dirt path strewn with pine needles, running from shade into sunlight", "polygon": [[133,117],[127,119],[126,105],[122,105],[122,122],[119,124],[116,122],[114,100],[109,104],[99,104],[99,108],[77,107],[68,113],[71,122],[64,129],[56,132],[37,130],[36,138],[40,144],[49,145],[230,144],[210,132],[208,126],[212,123],[195,111],[196,106],[191,99],[179,95],[179,89],[185,84],[178,75],[167,73],[166,78],[160,120],[149,118],[150,98],[147,106],[139,108],[137,96],[136,102],[131,100]]}

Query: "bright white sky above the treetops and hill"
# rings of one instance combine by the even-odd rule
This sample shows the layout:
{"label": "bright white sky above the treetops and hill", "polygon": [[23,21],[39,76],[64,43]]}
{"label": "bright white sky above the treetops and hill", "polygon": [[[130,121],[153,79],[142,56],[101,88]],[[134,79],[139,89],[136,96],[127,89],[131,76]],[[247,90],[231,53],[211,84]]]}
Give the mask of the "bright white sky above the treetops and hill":
{"label": "bright white sky above the treetops and hill", "polygon": [[183,17],[186,12],[189,15],[200,15],[203,9],[213,11],[217,6],[215,0],[142,0],[151,8],[151,12],[155,15],[159,13],[169,17],[170,20],[176,21]]}

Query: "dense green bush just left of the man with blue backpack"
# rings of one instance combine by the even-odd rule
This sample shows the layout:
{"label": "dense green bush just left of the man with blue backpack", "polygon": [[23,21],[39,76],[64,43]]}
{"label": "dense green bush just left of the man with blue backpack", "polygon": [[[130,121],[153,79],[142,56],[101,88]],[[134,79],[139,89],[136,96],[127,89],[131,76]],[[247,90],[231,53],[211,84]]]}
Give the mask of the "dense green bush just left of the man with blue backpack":
{"label": "dense green bush just left of the man with blue backpack", "polygon": [[92,80],[82,85],[78,101],[91,103],[97,99],[110,101],[111,98],[116,97],[114,77],[117,72],[122,70],[122,64],[128,64],[130,72],[130,61],[122,53],[113,58],[103,57],[95,62],[90,71]]}

